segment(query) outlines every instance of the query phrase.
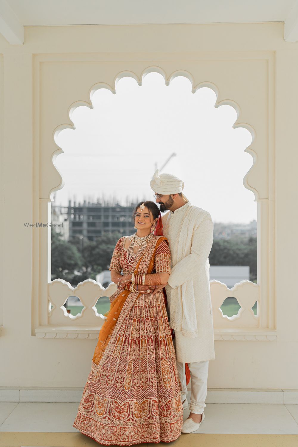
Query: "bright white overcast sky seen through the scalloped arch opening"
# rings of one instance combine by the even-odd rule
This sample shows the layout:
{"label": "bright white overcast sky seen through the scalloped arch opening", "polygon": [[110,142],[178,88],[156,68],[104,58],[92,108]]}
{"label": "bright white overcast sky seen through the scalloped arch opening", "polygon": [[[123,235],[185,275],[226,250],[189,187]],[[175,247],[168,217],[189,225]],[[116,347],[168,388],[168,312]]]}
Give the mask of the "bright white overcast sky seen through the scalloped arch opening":
{"label": "bright white overcast sky seen through the scalloped arch opening", "polygon": [[157,73],[148,74],[141,87],[122,78],[116,91],[98,90],[92,110],[74,111],[76,129],[56,138],[64,153],[55,163],[65,180],[56,203],[67,205],[74,195],[77,201],[116,197],[122,204],[127,197],[155,200],[150,188],[155,164],[160,168],[176,153],[162,172],[183,179],[193,205],[209,211],[215,222],[256,219],[254,195],[243,186],[252,166],[244,149],[252,137],[232,128],[232,107],[216,109],[211,89],[191,93],[184,77],[166,86]]}

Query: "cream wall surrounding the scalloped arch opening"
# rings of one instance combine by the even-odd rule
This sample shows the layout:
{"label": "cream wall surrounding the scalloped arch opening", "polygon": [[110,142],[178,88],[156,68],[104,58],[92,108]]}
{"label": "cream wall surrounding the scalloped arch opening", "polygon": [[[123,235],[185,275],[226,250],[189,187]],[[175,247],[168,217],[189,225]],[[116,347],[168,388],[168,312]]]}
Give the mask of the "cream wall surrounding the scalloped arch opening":
{"label": "cream wall surrounding the scalloped arch opening", "polygon": [[277,339],[215,342],[208,386],[298,388],[298,43],[284,42],[283,25],[27,27],[23,46],[0,38],[0,53],[0,386],[85,383],[96,340],[34,336],[44,318],[40,300],[46,298],[49,272],[42,259],[48,242],[34,233],[43,230],[24,228],[23,222],[46,212],[50,190],[60,184],[51,164],[58,149],[53,132],[71,125],[70,105],[89,101],[93,84],[111,84],[119,72],[139,76],[158,65],[167,76],[179,66],[195,76],[196,84],[212,82],[211,73],[220,100],[237,102],[240,122],[257,135],[252,146],[257,162],[247,186],[255,188],[260,207],[264,204],[258,219],[265,230],[258,237],[266,242],[269,257],[259,265],[258,281],[264,278],[264,307],[270,307],[269,327],[276,328]]}

